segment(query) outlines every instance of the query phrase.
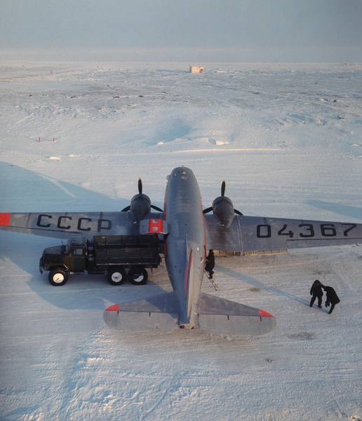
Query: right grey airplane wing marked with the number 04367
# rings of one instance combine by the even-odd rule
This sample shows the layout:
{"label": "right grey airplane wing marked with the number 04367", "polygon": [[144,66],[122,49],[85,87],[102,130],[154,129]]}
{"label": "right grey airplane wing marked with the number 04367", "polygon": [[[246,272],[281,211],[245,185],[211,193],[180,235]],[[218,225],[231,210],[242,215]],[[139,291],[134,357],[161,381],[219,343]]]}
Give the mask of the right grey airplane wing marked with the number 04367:
{"label": "right grey airplane wing marked with the number 04367", "polygon": [[235,215],[226,228],[205,215],[208,248],[243,255],[286,253],[288,248],[362,243],[362,224]]}

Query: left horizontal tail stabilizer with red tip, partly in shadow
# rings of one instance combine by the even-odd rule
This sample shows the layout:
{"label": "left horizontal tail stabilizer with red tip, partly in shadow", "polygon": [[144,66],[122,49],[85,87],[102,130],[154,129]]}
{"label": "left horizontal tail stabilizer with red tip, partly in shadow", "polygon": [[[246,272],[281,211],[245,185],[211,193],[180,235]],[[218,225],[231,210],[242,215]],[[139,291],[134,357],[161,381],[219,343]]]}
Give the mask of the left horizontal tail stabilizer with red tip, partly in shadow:
{"label": "left horizontal tail stabilizer with red tip, partly in shadow", "polygon": [[123,331],[170,332],[179,326],[179,313],[176,293],[165,293],[112,305],[103,319],[110,328]]}

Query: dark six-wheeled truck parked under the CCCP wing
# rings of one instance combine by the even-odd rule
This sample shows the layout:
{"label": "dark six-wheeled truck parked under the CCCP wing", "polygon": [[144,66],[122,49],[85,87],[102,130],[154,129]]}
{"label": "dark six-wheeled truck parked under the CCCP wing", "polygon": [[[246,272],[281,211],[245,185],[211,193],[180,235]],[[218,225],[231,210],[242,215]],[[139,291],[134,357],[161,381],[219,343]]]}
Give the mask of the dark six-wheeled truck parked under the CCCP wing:
{"label": "dark six-wheeled truck parked under the CCCP wing", "polygon": [[48,271],[53,286],[67,283],[71,274],[107,274],[111,285],[122,285],[128,278],[134,285],[145,284],[146,268],[161,263],[158,238],[150,235],[72,237],[67,244],[43,250],[41,274]]}

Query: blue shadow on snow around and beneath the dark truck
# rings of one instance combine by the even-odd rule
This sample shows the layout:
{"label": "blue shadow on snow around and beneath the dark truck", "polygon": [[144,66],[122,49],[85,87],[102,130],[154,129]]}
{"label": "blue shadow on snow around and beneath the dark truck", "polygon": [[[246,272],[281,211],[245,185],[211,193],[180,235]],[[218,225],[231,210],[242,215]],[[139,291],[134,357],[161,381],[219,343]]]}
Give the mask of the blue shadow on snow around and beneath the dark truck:
{"label": "blue shadow on snow around and beneath the dark truck", "polygon": [[[165,292],[152,281],[166,275],[163,272],[166,269],[162,267],[154,269],[145,286],[133,286],[127,282],[122,286],[111,286],[105,274],[72,275],[64,286],[52,286],[48,282],[48,272],[43,275],[39,272],[39,258],[44,248],[60,244],[60,239],[0,232],[1,290],[12,290],[12,283],[22,283],[24,293],[30,289],[51,305],[68,310],[104,310],[118,302],[140,300]],[[22,293],[18,285],[14,290]]]}

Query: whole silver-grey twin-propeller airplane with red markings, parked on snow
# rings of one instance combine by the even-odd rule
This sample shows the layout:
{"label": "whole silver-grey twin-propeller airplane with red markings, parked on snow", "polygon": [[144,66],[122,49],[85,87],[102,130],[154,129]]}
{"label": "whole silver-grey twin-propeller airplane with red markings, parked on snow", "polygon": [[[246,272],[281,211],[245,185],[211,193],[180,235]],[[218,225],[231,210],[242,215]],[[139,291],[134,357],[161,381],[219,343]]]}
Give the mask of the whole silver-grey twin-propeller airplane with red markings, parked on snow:
{"label": "whole silver-grey twin-propeller airplane with red markings, parked on snow", "polygon": [[224,181],[221,196],[203,209],[196,177],[185,166],[173,169],[167,180],[163,210],[142,193],[139,180],[138,194],[121,212],[0,213],[0,230],[63,239],[159,234],[173,291],[108,307],[103,312],[107,326],[149,332],[199,328],[247,336],[271,333],[276,319],[262,309],[202,293],[207,250],[215,255],[267,255],[362,240],[362,224],[245,216],[224,195]]}

